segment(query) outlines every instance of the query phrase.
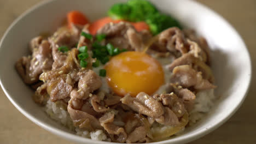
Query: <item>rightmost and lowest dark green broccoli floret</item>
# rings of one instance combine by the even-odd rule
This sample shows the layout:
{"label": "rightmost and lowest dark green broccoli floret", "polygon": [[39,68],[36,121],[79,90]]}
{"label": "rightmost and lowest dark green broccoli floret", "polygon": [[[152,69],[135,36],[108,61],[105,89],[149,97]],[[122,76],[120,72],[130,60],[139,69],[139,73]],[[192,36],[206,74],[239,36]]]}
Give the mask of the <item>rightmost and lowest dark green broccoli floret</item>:
{"label": "rightmost and lowest dark green broccoli floret", "polygon": [[149,25],[150,31],[154,35],[170,27],[182,28],[179,22],[173,17],[160,13],[148,16],[146,22]]}

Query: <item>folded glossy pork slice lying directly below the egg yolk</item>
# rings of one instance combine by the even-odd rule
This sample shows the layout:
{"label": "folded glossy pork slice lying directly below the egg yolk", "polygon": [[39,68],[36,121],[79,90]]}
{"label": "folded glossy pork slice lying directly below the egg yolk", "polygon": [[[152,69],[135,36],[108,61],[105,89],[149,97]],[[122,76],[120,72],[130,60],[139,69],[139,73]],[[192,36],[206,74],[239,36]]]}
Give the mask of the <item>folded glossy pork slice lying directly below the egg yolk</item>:
{"label": "folded glossy pork slice lying directly below the egg yolk", "polygon": [[144,92],[137,94],[136,98],[126,95],[120,100],[123,104],[131,107],[132,110],[142,113],[143,115],[155,118],[164,113],[162,104]]}

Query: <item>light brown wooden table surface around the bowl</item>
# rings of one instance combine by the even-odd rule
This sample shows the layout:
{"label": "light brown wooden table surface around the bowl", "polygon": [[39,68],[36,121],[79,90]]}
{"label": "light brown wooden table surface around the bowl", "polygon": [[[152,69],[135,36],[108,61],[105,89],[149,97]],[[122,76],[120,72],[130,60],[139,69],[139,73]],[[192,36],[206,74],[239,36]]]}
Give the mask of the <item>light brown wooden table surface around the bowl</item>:
{"label": "light brown wooden table surface around the bowl", "polygon": [[[11,22],[26,9],[41,0],[0,0],[0,38]],[[178,0],[177,0],[178,1]],[[225,17],[242,35],[256,68],[256,1],[255,0],[199,0]],[[194,143],[256,143],[256,83],[252,79],[251,89],[245,103],[228,122]],[[73,143],[40,128],[23,116],[5,97],[0,88],[0,143]]]}

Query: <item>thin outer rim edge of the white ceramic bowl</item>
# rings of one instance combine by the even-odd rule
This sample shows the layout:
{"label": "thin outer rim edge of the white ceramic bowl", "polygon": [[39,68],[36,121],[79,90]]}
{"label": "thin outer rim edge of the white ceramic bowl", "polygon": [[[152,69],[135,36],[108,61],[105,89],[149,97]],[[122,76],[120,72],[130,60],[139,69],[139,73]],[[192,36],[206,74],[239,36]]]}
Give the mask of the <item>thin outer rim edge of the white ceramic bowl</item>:
{"label": "thin outer rim edge of the white ceramic bowl", "polygon": [[[3,41],[7,37],[7,34],[9,33],[10,29],[15,27],[15,25],[24,16],[26,16],[27,14],[32,13],[37,8],[42,7],[43,5],[49,4],[49,3],[54,2],[54,1],[57,1],[57,0],[46,0],[46,1],[39,2],[39,3],[35,4],[35,5],[33,5],[31,8],[27,9],[18,18],[16,18],[11,23],[11,25],[7,28],[7,30],[4,32],[3,37],[2,37],[2,39],[0,41],[0,49],[2,47]],[[241,42],[242,42],[241,44],[245,46],[245,48],[246,48],[245,51],[246,51],[246,54],[247,54],[247,56],[249,58],[249,61],[248,61],[249,62],[249,70],[248,70],[249,74],[248,74],[247,83],[246,83],[246,85],[247,85],[246,91],[245,91],[245,93],[243,93],[243,97],[242,97],[241,101],[238,103],[238,105],[235,107],[235,109],[233,109],[230,113],[226,114],[223,117],[222,121],[219,121],[216,125],[210,125],[210,127],[208,127],[207,129],[199,130],[199,131],[197,131],[197,132],[195,132],[193,134],[190,134],[189,136],[184,137],[183,139],[179,139],[179,137],[176,137],[176,140],[173,141],[173,142],[179,142],[179,143],[185,143],[185,142],[190,142],[190,141],[199,139],[200,137],[202,137],[204,135],[207,135],[208,133],[210,133],[211,131],[217,129],[218,127],[220,127],[220,125],[222,125],[226,121],[228,121],[228,119],[232,115],[234,115],[234,113],[240,108],[240,106],[242,105],[243,101],[245,101],[246,95],[247,95],[247,93],[249,91],[249,87],[250,87],[251,81],[252,81],[252,61],[251,61],[251,56],[249,55],[248,48],[247,48],[247,46],[245,44],[245,41],[242,39],[241,35],[236,31],[236,29],[226,19],[224,19],[224,17],[222,15],[218,14],[216,11],[212,10],[211,8],[207,7],[204,4],[199,3],[197,1],[191,1],[191,2],[199,5],[200,7],[203,7],[205,9],[209,10],[214,15],[217,15],[219,17],[219,19],[222,20],[228,27],[230,27],[231,31],[233,31],[238,36],[238,39],[240,39]],[[1,85],[1,87],[3,89],[4,94],[11,101],[11,103],[16,107],[16,109],[18,109],[24,116],[26,116],[32,122],[36,123],[37,125],[39,125],[40,127],[44,128],[45,130],[50,131],[51,133],[54,133],[54,134],[56,134],[56,135],[58,135],[60,137],[63,137],[65,139],[67,139],[67,140],[72,140],[72,141],[76,141],[76,142],[89,142],[89,143],[93,143],[93,144],[96,144],[96,143],[106,143],[106,144],[107,143],[108,144],[109,143],[117,143],[117,142],[106,142],[106,141],[91,140],[91,139],[88,139],[88,138],[85,138],[85,137],[82,137],[82,136],[77,136],[77,135],[68,133],[66,131],[54,128],[51,125],[40,121],[40,119],[37,119],[36,117],[34,117],[33,115],[30,115],[30,113],[28,113],[24,109],[22,109],[21,106],[19,104],[17,104],[15,102],[15,100],[11,97],[11,95],[8,93],[8,90],[4,87],[4,85],[2,83],[2,80],[1,80],[1,75],[0,75],[0,85]],[[167,143],[170,142],[170,140],[171,139],[164,140],[164,141],[159,141],[159,142],[152,142],[152,143],[154,143],[154,144],[160,144],[160,143],[161,144],[164,144],[164,143],[167,144]]]}

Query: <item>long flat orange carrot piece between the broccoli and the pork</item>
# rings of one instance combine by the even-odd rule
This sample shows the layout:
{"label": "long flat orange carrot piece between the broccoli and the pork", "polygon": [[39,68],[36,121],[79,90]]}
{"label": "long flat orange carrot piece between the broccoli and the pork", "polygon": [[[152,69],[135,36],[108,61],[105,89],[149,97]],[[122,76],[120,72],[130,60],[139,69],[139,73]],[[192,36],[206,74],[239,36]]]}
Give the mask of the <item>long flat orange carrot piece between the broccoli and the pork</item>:
{"label": "long flat orange carrot piece between the broccoli and the pork", "polygon": [[[110,17],[103,17],[102,19],[96,20],[95,22],[91,23],[89,26],[89,31],[91,34],[95,35],[101,27],[106,25],[109,22],[118,23],[124,20],[112,20]],[[131,24],[135,27],[135,29],[139,32],[144,29],[149,30],[149,26],[146,22],[131,22]]]}

